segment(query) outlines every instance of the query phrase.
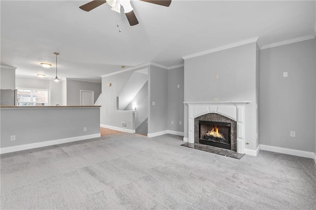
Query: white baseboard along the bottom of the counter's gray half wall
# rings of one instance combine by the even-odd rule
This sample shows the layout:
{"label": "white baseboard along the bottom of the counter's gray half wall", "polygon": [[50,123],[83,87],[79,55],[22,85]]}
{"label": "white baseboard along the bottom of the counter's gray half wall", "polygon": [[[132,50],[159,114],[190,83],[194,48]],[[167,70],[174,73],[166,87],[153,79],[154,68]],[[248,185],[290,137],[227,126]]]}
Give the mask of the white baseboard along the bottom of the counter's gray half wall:
{"label": "white baseboard along the bottom of the counter's gray half wall", "polygon": [[21,150],[26,150],[26,149],[34,149],[34,148],[39,148],[43,146],[51,146],[51,145],[60,144],[60,143],[68,143],[68,142],[79,141],[79,140],[93,139],[93,138],[98,138],[98,137],[101,137],[100,133],[86,135],[86,136],[79,136],[79,137],[70,137],[70,138],[59,139],[59,140],[48,140],[48,141],[41,141],[37,143],[28,143],[28,144],[22,144],[22,145],[16,145],[16,146],[8,146],[8,147],[0,148],[0,154],[16,152],[16,151],[21,151]]}

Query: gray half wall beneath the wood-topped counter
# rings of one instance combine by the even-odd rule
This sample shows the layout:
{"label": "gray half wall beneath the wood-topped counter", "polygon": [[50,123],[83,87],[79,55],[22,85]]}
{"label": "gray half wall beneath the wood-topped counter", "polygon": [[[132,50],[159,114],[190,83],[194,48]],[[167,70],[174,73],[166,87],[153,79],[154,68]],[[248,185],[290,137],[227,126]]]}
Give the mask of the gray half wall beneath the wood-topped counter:
{"label": "gray half wall beneath the wood-topped counter", "polygon": [[[100,133],[99,107],[15,107],[0,111],[1,148]],[[13,135],[15,141],[10,140]]]}

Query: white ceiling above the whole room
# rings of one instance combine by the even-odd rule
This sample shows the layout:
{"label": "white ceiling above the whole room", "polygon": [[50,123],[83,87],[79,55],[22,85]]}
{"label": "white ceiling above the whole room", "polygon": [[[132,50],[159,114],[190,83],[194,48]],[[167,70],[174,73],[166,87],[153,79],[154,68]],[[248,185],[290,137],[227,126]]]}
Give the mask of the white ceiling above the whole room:
{"label": "white ceiling above the whole room", "polygon": [[[139,24],[89,0],[0,1],[1,65],[17,76],[46,74],[101,81],[100,75],[153,62],[183,64],[183,56],[260,37],[268,45],[313,35],[315,1],[172,0],[169,7],[132,0]],[[40,63],[53,66],[44,69]]]}

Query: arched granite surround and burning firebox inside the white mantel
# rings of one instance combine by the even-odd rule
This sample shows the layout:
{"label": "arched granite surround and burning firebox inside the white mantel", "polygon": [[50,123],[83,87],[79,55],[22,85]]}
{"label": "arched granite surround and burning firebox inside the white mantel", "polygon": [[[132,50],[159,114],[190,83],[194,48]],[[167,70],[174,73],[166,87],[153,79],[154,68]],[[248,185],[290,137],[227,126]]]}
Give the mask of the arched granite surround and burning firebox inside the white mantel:
{"label": "arched granite surround and burning firebox inside the white mantel", "polygon": [[218,113],[194,119],[194,142],[237,151],[237,122]]}

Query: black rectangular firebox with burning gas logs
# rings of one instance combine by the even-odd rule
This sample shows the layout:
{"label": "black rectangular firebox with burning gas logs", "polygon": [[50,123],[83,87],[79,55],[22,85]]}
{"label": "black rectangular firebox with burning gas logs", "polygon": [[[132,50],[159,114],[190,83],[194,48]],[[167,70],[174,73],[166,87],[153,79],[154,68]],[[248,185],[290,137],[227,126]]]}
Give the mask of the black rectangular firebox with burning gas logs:
{"label": "black rectangular firebox with burning gas logs", "polygon": [[199,143],[231,149],[231,123],[199,121]]}

